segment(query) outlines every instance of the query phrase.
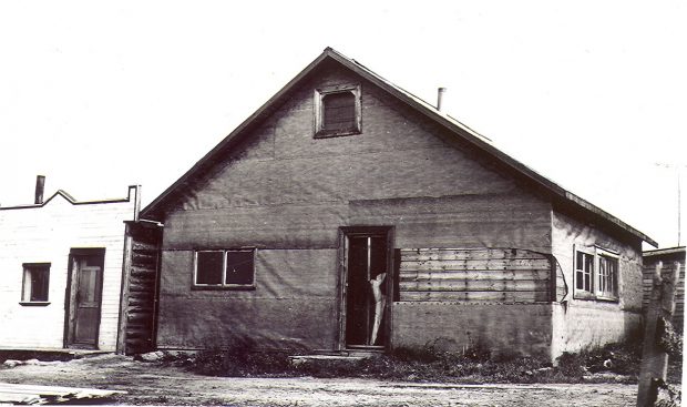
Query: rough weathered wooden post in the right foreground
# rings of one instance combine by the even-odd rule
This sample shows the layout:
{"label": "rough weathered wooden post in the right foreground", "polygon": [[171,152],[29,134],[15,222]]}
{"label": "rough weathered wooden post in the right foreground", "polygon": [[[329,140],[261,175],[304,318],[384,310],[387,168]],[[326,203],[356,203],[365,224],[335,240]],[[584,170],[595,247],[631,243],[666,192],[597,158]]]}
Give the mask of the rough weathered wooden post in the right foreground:
{"label": "rough weathered wooden post in the right foreground", "polygon": [[658,262],[646,313],[637,407],[654,405],[657,391],[656,380],[665,381],[668,373],[668,354],[659,346],[659,340],[664,335],[664,324],[659,324],[659,319],[670,322],[675,312],[675,292],[680,276],[680,264],[676,262],[673,274],[668,276],[660,274],[662,268],[663,263]]}

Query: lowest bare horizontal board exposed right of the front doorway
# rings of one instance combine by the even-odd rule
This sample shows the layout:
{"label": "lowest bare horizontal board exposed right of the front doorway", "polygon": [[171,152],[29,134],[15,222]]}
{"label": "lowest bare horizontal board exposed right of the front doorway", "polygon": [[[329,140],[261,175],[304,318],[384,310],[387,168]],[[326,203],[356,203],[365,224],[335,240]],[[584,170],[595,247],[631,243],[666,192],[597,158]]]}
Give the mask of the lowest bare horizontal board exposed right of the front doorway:
{"label": "lowest bare horizontal board exposed right of the front doorway", "polygon": [[536,303],[548,302],[550,292],[401,292],[404,302]]}

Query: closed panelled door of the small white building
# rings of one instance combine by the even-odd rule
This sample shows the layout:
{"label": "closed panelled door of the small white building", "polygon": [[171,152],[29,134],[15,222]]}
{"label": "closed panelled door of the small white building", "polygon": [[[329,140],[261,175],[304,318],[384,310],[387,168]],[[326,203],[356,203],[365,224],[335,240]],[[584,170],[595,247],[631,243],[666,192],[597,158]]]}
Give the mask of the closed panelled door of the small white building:
{"label": "closed panelled door of the small white building", "polygon": [[70,253],[66,346],[98,348],[105,251],[72,248]]}

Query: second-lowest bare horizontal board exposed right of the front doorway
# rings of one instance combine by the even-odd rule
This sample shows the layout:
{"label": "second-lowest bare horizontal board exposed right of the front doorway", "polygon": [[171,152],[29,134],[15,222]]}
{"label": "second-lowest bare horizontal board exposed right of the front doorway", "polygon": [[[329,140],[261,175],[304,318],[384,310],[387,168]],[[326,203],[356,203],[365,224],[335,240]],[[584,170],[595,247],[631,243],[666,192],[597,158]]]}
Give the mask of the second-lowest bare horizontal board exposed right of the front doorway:
{"label": "second-lowest bare horizontal board exposed right of the front doorway", "polygon": [[400,282],[401,292],[537,292],[548,289],[548,282],[543,281],[442,281]]}

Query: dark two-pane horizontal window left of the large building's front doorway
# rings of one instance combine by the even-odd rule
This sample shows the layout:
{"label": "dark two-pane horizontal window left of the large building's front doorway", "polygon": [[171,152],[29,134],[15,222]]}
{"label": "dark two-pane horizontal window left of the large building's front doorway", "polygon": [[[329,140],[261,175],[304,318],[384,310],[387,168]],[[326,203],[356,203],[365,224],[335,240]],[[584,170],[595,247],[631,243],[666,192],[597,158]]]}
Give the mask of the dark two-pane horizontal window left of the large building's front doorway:
{"label": "dark two-pane horizontal window left of the large building's front doorway", "polygon": [[255,250],[196,251],[194,262],[196,288],[254,288]]}

